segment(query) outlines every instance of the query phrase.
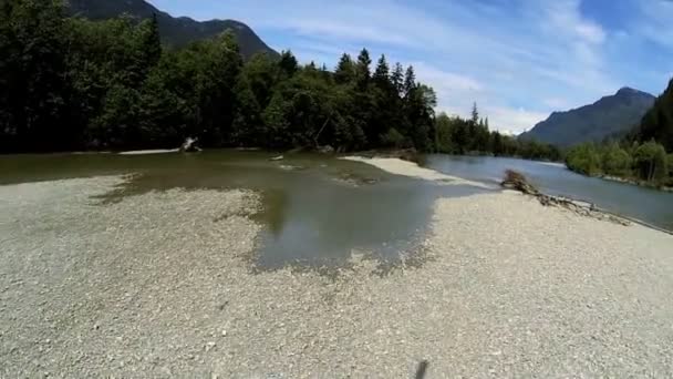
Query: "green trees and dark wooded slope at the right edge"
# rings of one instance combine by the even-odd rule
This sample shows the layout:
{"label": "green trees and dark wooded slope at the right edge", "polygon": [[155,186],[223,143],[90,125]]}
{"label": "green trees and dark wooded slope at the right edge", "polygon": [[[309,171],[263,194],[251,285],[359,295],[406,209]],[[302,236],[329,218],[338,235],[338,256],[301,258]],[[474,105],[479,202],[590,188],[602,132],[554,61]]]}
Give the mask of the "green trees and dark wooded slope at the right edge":
{"label": "green trees and dark wooded slope at the right edge", "polygon": [[620,141],[571,147],[566,163],[586,175],[673,186],[673,80],[631,133]]}

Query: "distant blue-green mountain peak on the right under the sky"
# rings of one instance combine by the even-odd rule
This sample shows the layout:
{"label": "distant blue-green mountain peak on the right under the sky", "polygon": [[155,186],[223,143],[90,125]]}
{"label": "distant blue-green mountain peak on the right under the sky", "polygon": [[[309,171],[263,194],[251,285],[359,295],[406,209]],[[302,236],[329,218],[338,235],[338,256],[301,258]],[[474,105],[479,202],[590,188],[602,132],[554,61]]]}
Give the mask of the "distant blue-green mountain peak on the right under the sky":
{"label": "distant blue-green mountain peak on the right under the sky", "polygon": [[646,92],[623,88],[614,95],[567,112],[553,112],[519,139],[535,139],[561,147],[582,142],[600,142],[627,134],[640,124],[655,98]]}

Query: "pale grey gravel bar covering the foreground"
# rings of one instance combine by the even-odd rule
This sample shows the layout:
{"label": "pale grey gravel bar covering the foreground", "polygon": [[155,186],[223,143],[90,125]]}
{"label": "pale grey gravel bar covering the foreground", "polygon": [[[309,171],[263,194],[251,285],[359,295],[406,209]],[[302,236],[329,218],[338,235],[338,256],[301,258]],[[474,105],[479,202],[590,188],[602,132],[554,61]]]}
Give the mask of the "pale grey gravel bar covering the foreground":
{"label": "pale grey gravel bar covering the foreground", "polygon": [[421,267],[253,273],[247,191],[0,186],[0,377],[673,376],[673,236],[439,199]]}

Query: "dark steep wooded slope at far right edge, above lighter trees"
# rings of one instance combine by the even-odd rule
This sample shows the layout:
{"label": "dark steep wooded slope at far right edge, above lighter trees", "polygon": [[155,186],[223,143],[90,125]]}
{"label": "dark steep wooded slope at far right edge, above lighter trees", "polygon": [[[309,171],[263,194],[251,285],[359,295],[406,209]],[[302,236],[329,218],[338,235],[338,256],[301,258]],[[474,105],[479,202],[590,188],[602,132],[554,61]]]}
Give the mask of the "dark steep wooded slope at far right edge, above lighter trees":
{"label": "dark steep wooded slope at far right edge, above lighter trees", "polygon": [[635,136],[641,142],[655,140],[669,153],[673,153],[673,79],[666,91],[656,99],[654,106],[645,113]]}

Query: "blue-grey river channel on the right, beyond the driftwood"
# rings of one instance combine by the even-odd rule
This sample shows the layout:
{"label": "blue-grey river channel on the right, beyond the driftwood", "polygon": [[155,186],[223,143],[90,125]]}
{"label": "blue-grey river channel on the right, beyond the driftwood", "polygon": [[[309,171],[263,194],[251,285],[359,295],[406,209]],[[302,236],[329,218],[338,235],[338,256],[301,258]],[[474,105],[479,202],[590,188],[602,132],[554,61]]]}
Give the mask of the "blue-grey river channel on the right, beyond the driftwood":
{"label": "blue-grey river channel on the right, beyond the driftwood", "polygon": [[519,171],[542,192],[594,203],[611,212],[673,231],[673,193],[576,174],[565,166],[485,156],[428,155],[425,166],[474,181],[496,183]]}

